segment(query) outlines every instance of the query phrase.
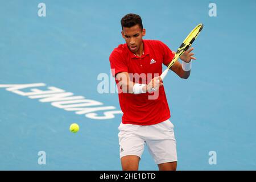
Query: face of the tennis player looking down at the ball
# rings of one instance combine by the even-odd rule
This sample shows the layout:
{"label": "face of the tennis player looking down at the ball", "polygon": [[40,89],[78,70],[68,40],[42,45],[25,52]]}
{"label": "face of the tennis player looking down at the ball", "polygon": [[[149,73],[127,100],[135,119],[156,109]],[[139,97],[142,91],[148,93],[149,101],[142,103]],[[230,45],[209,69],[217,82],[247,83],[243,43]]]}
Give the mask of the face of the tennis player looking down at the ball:
{"label": "face of the tennis player looking down at the ball", "polygon": [[141,27],[139,27],[138,24],[136,24],[133,27],[127,28],[123,27],[122,36],[125,39],[125,42],[131,52],[139,52],[142,47],[142,37],[145,36],[146,30]]}

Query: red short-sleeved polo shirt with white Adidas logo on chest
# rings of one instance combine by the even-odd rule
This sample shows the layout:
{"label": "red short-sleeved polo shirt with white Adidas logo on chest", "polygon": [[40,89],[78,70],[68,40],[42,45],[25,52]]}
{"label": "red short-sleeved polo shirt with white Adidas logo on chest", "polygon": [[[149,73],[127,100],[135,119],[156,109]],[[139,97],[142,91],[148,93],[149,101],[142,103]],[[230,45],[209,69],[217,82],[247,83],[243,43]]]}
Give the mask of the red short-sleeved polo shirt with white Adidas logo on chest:
{"label": "red short-sleeved polo shirt with white Adidas logo on chest", "polygon": [[[159,40],[143,40],[144,53],[141,57],[134,55],[127,44],[120,44],[111,53],[110,67],[112,75],[119,72],[142,74],[139,84],[148,84],[155,76],[162,74],[162,65],[168,65],[174,54],[166,44]],[[144,73],[144,75],[143,75]],[[158,75],[155,75],[158,74]],[[118,81],[116,80],[117,84]],[[118,88],[119,89],[119,88]],[[171,117],[164,87],[159,88],[158,97],[155,93],[131,94],[119,90],[119,104],[123,111],[122,123],[134,125],[154,125]],[[150,99],[154,98],[154,99]]]}

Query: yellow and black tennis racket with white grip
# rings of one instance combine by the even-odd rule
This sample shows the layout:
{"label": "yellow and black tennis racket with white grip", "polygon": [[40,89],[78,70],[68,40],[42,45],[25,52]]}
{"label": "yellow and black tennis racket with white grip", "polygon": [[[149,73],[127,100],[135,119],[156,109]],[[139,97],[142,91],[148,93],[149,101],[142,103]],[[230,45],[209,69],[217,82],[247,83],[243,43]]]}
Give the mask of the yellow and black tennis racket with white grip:
{"label": "yellow and black tennis racket with white grip", "polygon": [[171,63],[168,65],[168,68],[160,75],[160,77],[163,78],[166,77],[168,70],[172,67],[172,65],[174,65],[174,63],[179,59],[179,57],[183,54],[183,52],[187,51],[187,49],[189,47],[191,47],[192,43],[194,42],[194,40],[196,40],[197,36],[199,35],[199,33],[201,32],[201,30],[203,29],[203,24],[200,23],[199,25],[197,25],[187,36],[187,38],[185,38],[185,40],[183,41],[183,43],[180,45],[180,47],[177,49],[174,58],[172,59]]}

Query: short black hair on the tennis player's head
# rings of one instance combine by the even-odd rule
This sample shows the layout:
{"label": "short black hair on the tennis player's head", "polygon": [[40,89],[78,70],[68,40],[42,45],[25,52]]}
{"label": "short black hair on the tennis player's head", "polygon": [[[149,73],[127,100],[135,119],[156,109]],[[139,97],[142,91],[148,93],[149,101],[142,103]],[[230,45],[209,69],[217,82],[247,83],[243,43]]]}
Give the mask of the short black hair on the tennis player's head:
{"label": "short black hair on the tennis player's head", "polygon": [[139,27],[141,27],[141,30],[143,29],[141,16],[137,14],[130,13],[123,16],[123,18],[121,19],[122,30],[123,30],[123,27],[130,28],[135,26],[136,24],[138,24]]}

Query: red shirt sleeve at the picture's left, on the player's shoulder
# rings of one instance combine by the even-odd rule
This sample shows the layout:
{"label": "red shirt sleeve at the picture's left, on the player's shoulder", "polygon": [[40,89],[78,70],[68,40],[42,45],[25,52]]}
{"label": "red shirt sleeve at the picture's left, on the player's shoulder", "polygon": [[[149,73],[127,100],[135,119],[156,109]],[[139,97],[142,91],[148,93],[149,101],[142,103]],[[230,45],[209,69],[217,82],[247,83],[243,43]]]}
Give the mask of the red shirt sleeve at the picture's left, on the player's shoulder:
{"label": "red shirt sleeve at the picture's left, on the player's shoulder", "polygon": [[121,56],[121,53],[118,51],[113,51],[109,56],[110,68],[112,76],[115,77],[117,73],[128,72],[128,67],[125,59]]}

